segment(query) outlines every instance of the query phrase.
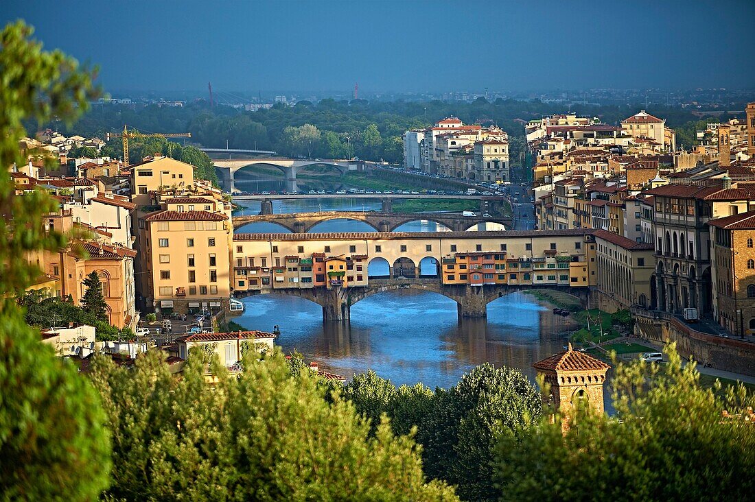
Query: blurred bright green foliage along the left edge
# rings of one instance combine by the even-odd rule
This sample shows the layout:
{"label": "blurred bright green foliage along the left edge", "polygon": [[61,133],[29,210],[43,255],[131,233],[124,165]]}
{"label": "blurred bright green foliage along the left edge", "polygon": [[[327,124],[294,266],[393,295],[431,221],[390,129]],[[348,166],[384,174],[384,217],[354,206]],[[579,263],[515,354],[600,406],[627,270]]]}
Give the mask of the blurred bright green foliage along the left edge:
{"label": "blurred bright green foliage along the left edge", "polygon": [[[60,51],[43,51],[18,22],[0,32],[0,165],[22,165],[23,121],[72,121],[98,92],[92,72]],[[94,500],[111,467],[109,434],[97,393],[75,367],[58,360],[26,325],[12,297],[39,276],[30,251],[57,250],[64,236],[45,231],[57,205],[45,192],[15,196],[0,177],[0,493],[4,500]]]}

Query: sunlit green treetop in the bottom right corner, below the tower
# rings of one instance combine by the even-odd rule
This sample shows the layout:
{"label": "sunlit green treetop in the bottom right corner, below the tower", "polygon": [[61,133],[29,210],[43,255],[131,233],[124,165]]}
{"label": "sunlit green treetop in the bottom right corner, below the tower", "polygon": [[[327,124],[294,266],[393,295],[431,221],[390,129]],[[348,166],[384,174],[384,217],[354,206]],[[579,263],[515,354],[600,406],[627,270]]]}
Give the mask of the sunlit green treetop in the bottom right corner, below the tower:
{"label": "sunlit green treetop in the bottom right corner, below the tower", "polygon": [[614,417],[580,408],[565,435],[560,420],[544,419],[501,438],[495,479],[503,499],[751,498],[752,394],[741,385],[726,393],[720,385],[703,388],[673,344],[666,354],[664,365],[616,365]]}

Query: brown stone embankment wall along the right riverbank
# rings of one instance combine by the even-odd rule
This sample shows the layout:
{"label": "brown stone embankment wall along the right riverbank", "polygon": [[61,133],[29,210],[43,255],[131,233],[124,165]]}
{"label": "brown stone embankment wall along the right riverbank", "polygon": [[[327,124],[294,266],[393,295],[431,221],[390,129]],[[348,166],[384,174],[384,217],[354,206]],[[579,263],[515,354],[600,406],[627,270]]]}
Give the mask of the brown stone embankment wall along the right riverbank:
{"label": "brown stone embankment wall along the right riverbank", "polygon": [[676,342],[676,350],[686,359],[734,373],[755,376],[755,343],[695,330],[668,313],[632,312],[636,336],[656,343]]}

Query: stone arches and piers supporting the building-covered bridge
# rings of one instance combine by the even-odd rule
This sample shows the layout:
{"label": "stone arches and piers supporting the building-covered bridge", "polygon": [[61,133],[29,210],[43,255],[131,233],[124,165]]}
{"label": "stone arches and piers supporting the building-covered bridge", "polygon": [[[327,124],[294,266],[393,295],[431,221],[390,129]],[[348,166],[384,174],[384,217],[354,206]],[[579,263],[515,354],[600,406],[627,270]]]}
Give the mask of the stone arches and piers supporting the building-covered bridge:
{"label": "stone arches and piers supporting the building-covered bridge", "polygon": [[243,291],[237,292],[236,297],[248,297],[257,294],[285,294],[310,300],[322,306],[322,319],[327,321],[346,321],[350,319],[351,306],[359,300],[371,297],[373,294],[399,289],[414,289],[432,291],[451,298],[457,303],[460,318],[487,317],[488,303],[498,300],[507,294],[527,289],[553,289],[571,294],[579,298],[583,306],[590,301],[590,288],[572,288],[570,286],[546,285],[444,285],[438,278],[432,279],[370,279],[369,285],[349,288],[281,288],[273,291]]}

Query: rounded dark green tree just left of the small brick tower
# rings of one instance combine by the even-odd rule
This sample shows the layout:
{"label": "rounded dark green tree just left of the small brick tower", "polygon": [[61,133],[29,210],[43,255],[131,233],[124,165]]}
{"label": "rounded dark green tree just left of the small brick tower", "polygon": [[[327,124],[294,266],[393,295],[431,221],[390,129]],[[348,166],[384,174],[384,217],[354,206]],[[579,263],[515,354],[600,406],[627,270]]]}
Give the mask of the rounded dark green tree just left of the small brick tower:
{"label": "rounded dark green tree just left of the small brick tower", "polygon": [[463,500],[493,500],[495,439],[513,435],[541,414],[540,392],[521,371],[489,363],[464,374],[450,390],[436,391],[422,421],[425,472],[457,486]]}

